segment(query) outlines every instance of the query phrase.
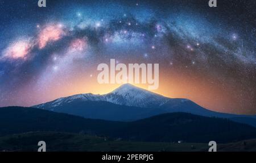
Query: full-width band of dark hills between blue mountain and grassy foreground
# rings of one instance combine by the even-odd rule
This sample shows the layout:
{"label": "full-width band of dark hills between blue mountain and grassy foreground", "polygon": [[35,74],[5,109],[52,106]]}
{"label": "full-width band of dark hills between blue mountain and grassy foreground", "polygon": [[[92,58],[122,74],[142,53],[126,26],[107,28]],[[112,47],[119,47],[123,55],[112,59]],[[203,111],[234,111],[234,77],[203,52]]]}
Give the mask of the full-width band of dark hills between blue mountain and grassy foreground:
{"label": "full-width band of dark hills between blue mountain and grassy foreground", "polygon": [[227,143],[256,138],[256,128],[246,124],[187,113],[162,114],[135,122],[111,122],[37,108],[0,108],[0,135],[35,131],[87,133],[133,141],[183,140],[193,143],[211,140]]}

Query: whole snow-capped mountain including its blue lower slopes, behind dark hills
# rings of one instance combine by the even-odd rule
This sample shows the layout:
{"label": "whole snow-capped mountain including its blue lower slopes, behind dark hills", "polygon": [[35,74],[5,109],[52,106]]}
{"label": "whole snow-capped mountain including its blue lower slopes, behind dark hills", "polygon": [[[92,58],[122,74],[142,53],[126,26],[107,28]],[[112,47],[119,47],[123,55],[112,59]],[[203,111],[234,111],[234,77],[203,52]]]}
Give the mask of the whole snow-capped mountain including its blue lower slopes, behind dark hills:
{"label": "whole snow-capped mountain including its blue lower slopes, behind dark hills", "polygon": [[234,122],[256,127],[256,117],[254,115],[236,115],[210,111],[189,99],[167,98],[129,83],[104,95],[77,94],[32,107],[78,115],[84,118],[121,122],[171,112],[186,112],[200,116],[228,118]]}

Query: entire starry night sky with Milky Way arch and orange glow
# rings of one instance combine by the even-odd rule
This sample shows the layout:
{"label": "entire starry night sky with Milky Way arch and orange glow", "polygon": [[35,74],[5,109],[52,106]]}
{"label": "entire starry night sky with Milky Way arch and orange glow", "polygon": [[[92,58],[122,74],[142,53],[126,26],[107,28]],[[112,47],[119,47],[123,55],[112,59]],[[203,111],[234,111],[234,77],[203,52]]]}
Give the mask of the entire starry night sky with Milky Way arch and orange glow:
{"label": "entire starry night sky with Milky Way arch and orange glow", "polygon": [[[256,1],[0,1],[0,106],[105,94],[97,66],[159,64],[159,88],[256,114]],[[137,85],[147,89],[148,85]]]}

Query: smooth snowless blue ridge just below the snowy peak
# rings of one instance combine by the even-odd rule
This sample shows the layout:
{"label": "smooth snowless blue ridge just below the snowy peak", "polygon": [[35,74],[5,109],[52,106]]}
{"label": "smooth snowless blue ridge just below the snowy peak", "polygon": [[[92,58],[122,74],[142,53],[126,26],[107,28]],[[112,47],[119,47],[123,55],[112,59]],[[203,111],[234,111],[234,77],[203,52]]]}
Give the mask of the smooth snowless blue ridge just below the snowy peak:
{"label": "smooth snowless blue ridge just below the snowy peak", "polygon": [[53,109],[52,107],[48,108],[47,104],[45,106],[47,110],[82,116],[84,118],[123,122],[166,113],[166,111],[158,108],[122,106],[105,101],[84,101],[78,99],[69,103],[61,103],[61,105]]}

